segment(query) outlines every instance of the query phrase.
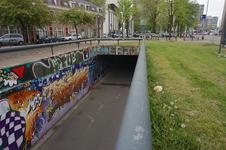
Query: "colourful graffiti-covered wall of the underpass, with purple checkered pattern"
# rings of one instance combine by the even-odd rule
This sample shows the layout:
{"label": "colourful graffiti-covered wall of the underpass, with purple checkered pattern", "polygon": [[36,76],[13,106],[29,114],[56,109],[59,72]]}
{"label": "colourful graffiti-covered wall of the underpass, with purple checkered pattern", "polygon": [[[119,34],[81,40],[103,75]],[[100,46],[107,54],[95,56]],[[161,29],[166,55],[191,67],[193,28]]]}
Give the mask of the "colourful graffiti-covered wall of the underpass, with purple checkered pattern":
{"label": "colourful graffiti-covered wall of the underpass, with purple checkered pattern", "polygon": [[117,63],[110,55],[123,54],[138,55],[139,46],[89,47],[0,69],[0,150],[30,149]]}

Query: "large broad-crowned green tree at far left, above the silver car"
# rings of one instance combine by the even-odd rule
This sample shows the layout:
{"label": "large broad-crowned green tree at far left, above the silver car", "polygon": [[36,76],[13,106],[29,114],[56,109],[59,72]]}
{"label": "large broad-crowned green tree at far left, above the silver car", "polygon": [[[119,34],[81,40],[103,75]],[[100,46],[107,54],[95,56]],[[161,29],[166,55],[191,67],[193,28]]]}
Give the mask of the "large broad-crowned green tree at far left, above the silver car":
{"label": "large broad-crowned green tree at far left, above the silver car", "polygon": [[0,23],[5,26],[20,26],[25,43],[25,26],[51,25],[52,19],[50,9],[40,0],[0,0]]}

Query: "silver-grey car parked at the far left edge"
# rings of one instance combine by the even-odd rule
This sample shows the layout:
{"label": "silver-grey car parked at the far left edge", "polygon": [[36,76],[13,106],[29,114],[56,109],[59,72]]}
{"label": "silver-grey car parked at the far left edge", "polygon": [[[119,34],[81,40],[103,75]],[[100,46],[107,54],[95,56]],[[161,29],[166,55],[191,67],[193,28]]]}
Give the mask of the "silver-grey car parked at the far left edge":
{"label": "silver-grey car parked at the far left edge", "polygon": [[24,38],[21,34],[4,34],[0,37],[0,46],[3,45],[23,45]]}

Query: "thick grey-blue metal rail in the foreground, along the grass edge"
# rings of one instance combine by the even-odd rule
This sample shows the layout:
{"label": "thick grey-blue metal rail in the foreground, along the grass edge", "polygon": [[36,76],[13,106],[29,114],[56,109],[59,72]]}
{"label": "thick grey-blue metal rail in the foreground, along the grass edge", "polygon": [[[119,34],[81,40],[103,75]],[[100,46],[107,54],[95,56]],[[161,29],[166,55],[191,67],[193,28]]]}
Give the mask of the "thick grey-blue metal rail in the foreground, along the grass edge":
{"label": "thick grey-blue metal rail in the foreground, along the grass edge", "polygon": [[143,39],[115,150],[152,150],[144,41]]}

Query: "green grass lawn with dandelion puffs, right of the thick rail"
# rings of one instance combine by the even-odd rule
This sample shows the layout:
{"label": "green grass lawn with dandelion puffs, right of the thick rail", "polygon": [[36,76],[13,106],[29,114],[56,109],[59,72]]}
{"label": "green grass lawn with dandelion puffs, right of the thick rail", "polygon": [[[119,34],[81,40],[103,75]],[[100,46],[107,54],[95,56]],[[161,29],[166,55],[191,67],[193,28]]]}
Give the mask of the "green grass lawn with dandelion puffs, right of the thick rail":
{"label": "green grass lawn with dandelion puffs, right of the thick rail", "polygon": [[145,45],[154,149],[226,149],[226,50],[219,57],[212,44]]}

